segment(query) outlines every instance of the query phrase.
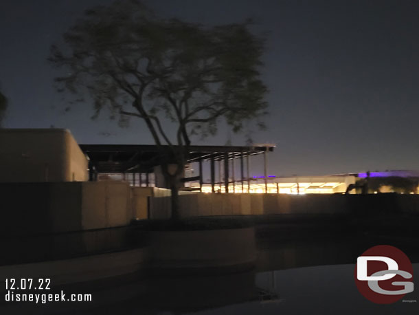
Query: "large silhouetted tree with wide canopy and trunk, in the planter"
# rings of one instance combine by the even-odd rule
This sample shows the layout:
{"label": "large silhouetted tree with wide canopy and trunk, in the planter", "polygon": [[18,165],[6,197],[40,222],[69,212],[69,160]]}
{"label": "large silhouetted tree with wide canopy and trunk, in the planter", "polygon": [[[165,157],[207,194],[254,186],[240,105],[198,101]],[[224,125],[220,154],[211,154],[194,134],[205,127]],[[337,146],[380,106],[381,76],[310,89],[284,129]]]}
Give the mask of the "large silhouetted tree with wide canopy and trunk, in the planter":
{"label": "large silhouetted tree with wide canopy and trunk, in the planter", "polygon": [[[94,116],[107,108],[122,124],[144,120],[161,150],[172,217],[179,216],[191,135],[213,135],[220,118],[240,131],[267,108],[258,71],[263,41],[249,21],[204,27],[159,18],[137,1],[116,1],[87,10],[63,37],[49,58],[65,67],[58,88],[81,102],[93,98]],[[168,120],[176,132],[167,131]]]}

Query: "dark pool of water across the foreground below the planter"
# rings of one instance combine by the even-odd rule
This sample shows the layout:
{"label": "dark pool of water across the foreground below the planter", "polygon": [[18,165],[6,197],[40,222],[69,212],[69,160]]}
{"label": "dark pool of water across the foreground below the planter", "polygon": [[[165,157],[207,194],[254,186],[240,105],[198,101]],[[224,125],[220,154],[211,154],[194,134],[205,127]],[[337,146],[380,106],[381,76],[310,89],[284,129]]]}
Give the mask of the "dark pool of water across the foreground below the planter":
{"label": "dark pool of water across the foreground below the planter", "polygon": [[[381,244],[406,252],[414,262],[416,285],[419,251],[414,241],[268,235],[258,238],[254,270],[218,275],[146,274],[137,280],[89,288],[91,303],[8,303],[0,305],[0,314],[419,314],[419,284],[404,301],[390,305],[367,301],[357,290],[356,257]],[[87,289],[67,290],[84,293]]]}

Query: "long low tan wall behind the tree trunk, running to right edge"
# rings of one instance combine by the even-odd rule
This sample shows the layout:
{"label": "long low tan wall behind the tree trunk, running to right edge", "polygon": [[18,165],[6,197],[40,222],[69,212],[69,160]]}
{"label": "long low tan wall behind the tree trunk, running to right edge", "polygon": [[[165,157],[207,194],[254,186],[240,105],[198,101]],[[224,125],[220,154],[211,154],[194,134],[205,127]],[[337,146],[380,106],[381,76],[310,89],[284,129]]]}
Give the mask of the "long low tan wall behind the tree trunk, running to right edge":
{"label": "long low tan wall behind the tree trunk, running to right edge", "polygon": [[[392,212],[419,214],[419,195],[194,194],[179,196],[182,217],[209,215],[343,214]],[[170,217],[170,197],[152,198],[150,217]]]}

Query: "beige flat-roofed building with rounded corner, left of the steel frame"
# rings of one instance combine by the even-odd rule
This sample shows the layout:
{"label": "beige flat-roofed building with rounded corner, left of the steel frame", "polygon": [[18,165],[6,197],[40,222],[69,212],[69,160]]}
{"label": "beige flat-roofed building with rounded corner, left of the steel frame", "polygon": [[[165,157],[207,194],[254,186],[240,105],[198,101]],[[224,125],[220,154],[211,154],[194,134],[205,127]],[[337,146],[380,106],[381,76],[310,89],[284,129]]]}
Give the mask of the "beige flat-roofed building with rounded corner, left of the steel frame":
{"label": "beige flat-roofed building with rounded corner, left of the steel frame", "polygon": [[0,182],[87,178],[87,159],[68,130],[0,129]]}

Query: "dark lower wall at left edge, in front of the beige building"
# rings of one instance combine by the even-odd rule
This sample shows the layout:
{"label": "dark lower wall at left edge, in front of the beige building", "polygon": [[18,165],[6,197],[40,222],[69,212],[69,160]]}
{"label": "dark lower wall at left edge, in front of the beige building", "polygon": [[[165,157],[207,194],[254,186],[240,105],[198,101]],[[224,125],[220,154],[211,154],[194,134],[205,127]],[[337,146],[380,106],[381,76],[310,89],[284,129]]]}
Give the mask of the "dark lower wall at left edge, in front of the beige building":
{"label": "dark lower wall at left edge, in front of the beige building", "polygon": [[0,183],[0,235],[126,226],[133,219],[127,182]]}

